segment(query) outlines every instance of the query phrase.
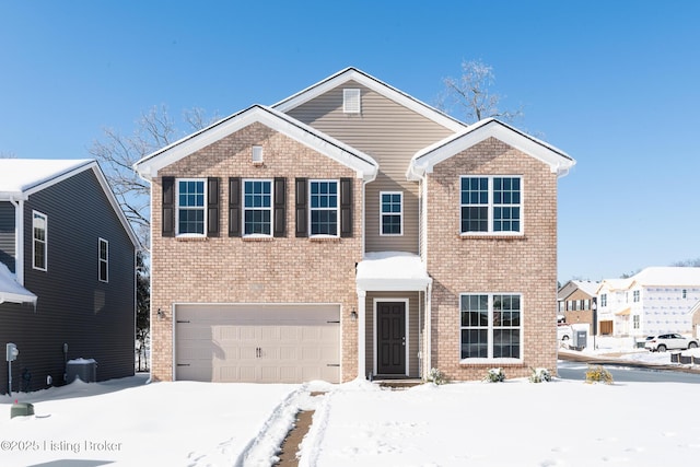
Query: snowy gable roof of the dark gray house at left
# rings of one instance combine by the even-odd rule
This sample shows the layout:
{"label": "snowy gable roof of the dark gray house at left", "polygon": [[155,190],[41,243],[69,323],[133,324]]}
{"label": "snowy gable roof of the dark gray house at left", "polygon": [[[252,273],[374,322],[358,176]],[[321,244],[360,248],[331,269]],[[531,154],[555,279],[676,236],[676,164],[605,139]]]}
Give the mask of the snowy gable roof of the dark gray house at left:
{"label": "snowy gable roof of the dark gray house at left", "polygon": [[135,246],[138,246],[139,241],[133,229],[114,196],[100,164],[94,159],[0,159],[0,200],[27,200],[32,194],[84,171],[93,171],[129,240]]}

